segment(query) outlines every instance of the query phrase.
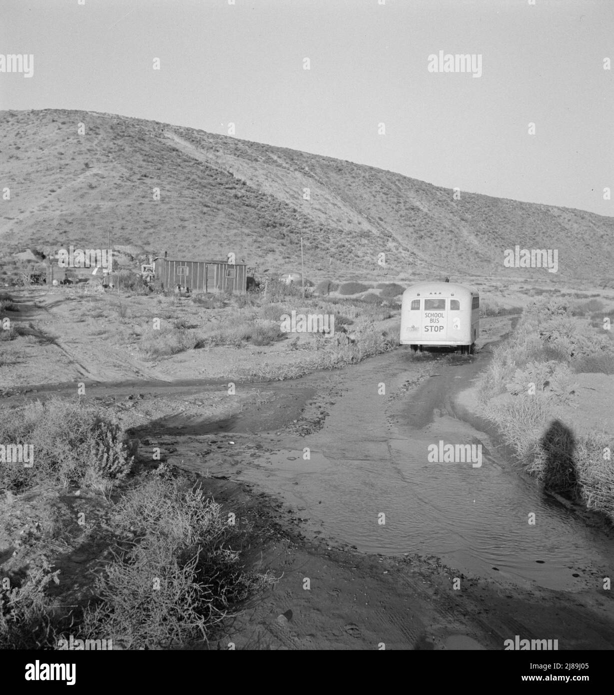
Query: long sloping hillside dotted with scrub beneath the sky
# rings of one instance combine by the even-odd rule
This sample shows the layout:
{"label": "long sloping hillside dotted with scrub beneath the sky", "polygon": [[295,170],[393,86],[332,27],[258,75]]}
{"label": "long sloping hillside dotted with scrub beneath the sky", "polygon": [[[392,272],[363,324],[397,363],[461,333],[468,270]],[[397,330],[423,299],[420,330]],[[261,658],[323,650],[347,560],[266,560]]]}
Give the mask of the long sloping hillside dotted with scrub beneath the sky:
{"label": "long sloping hillside dotted with scrub beneath the sky", "polygon": [[614,218],[464,192],[455,201],[394,172],[110,114],[2,111],[0,126],[3,250],[102,247],[110,232],[113,246],[233,251],[264,272],[298,267],[302,234],[311,277],[383,275],[380,252],[389,276],[517,277],[503,268],[517,244],[558,249],[557,277],[611,275]]}

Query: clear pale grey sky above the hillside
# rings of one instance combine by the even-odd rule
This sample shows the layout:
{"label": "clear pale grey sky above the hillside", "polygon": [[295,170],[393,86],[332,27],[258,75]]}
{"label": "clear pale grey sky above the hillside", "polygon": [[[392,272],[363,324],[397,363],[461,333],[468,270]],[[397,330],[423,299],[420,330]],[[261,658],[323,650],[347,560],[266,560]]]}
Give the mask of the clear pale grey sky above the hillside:
{"label": "clear pale grey sky above the hillside", "polygon": [[[34,56],[31,78],[0,72],[0,109],[232,123],[461,195],[614,215],[613,0],[232,1],[0,0],[0,58]],[[481,74],[430,71],[439,51]]]}

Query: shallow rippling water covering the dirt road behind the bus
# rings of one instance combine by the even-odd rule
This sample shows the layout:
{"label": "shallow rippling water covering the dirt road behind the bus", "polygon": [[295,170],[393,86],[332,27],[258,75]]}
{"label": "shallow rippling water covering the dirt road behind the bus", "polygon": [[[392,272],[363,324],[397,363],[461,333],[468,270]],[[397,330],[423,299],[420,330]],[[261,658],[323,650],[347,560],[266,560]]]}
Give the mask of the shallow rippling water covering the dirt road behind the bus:
{"label": "shallow rippling water covering the dirt road behind the bus", "polygon": [[[455,396],[484,366],[484,356],[395,351],[341,370],[333,378],[343,395],[328,405],[323,428],[241,477],[282,493],[310,528],[359,550],[438,555],[462,571],[551,589],[595,585],[611,576],[613,539],[544,496],[502,447],[458,417]],[[426,367],[433,374],[407,391]],[[481,466],[429,462],[439,441],[481,444]]]}

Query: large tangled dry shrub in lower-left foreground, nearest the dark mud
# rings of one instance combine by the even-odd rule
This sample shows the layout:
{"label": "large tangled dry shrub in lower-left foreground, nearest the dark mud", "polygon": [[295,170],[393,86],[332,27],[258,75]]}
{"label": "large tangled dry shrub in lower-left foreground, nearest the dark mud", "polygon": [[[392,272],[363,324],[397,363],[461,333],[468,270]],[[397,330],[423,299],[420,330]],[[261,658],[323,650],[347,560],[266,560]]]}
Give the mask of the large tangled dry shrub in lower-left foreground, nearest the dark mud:
{"label": "large tangled dry shrub in lower-left foreground, nearest the dark mud", "polygon": [[108,635],[127,649],[168,648],[209,639],[232,604],[274,582],[245,571],[239,551],[247,527],[185,480],[161,476],[131,491],[118,523],[136,531],[98,579],[102,602],[86,611],[86,639]]}

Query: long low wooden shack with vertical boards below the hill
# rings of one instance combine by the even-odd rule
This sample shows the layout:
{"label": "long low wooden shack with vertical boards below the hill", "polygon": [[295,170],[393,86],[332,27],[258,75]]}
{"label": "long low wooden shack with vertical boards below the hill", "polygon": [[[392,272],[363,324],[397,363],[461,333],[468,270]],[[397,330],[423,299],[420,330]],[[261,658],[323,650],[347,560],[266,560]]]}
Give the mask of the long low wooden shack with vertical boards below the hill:
{"label": "long low wooden shack with vertical boards below the hill", "polygon": [[247,292],[248,269],[245,263],[228,261],[186,261],[158,256],[154,276],[165,290],[177,287],[191,292]]}

